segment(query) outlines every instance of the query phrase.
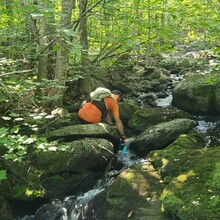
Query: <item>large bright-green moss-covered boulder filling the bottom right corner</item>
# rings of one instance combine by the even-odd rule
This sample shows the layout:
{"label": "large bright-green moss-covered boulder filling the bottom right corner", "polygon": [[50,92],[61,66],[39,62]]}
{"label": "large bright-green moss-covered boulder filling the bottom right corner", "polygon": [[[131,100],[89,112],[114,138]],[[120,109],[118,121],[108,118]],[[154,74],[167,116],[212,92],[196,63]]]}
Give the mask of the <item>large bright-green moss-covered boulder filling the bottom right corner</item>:
{"label": "large bright-green moss-covered boulder filling the bottom right corner", "polygon": [[220,216],[220,147],[200,148],[202,142],[195,136],[180,137],[148,155],[167,183],[161,200],[172,218],[217,220]]}

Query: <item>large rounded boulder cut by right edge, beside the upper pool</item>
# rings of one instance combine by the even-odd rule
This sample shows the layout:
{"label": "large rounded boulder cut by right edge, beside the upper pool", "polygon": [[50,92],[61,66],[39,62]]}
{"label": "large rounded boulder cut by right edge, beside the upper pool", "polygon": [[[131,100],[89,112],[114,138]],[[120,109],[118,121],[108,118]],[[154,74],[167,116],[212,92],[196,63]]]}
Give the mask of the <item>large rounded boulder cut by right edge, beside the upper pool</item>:
{"label": "large rounded boulder cut by right edge, beside the upper pool", "polygon": [[219,113],[219,74],[196,74],[180,82],[173,91],[173,104],[191,113]]}

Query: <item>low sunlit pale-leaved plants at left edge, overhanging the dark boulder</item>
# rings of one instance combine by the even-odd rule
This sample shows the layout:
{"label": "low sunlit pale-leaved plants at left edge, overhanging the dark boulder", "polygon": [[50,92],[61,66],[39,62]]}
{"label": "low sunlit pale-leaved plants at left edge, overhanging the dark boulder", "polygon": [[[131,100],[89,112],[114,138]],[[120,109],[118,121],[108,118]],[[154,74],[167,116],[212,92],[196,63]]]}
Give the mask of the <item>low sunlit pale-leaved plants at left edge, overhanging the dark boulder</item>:
{"label": "low sunlit pale-leaved plants at left edge, overhanging the dark boulder", "polygon": [[[35,122],[37,119],[41,119],[40,115],[39,117],[34,118]],[[38,130],[37,125],[24,122],[24,118],[17,114],[10,114],[9,116],[2,117],[2,119],[10,122],[10,128],[0,128],[0,146],[1,149],[4,149],[5,153],[2,155],[2,158],[5,160],[22,162],[25,157],[36,151],[65,149],[64,146],[57,142],[48,142],[45,137],[39,137],[34,134]],[[24,132],[27,134],[23,134]]]}

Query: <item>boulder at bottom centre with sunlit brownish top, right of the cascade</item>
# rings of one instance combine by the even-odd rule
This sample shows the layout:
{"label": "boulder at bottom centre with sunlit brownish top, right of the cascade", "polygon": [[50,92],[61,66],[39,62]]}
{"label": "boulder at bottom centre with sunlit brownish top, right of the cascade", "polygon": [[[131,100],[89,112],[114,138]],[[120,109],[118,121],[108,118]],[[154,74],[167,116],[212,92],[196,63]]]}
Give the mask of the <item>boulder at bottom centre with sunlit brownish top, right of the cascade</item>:
{"label": "boulder at bottom centre with sunlit brownish top, right of the cascade", "polygon": [[122,171],[89,207],[96,210],[98,219],[168,220],[160,209],[162,190],[163,183],[153,167],[137,164]]}

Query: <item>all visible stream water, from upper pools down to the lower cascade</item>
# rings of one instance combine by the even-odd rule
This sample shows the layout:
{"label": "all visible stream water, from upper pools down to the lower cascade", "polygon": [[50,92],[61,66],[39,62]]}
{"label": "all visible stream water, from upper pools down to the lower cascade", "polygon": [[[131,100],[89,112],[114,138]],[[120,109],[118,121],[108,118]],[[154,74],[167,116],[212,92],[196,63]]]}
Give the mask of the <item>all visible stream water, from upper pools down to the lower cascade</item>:
{"label": "all visible stream water, from upper pools down to the lower cascade", "polygon": [[[167,107],[172,102],[172,96],[168,96],[164,99],[157,101],[157,106]],[[201,117],[195,116],[195,120],[198,121],[196,129],[203,133],[210,141],[207,147],[219,146],[220,143],[220,117]],[[131,140],[130,140],[131,141]],[[121,170],[111,170],[107,172],[104,177],[96,183],[93,189],[86,193],[79,195],[72,195],[64,198],[63,200],[53,201],[51,204],[47,204],[47,209],[42,209],[44,216],[42,220],[78,220],[83,212],[83,209],[87,206],[90,200],[92,200],[97,194],[101,193],[105,188],[110,185],[115,177],[125,168],[137,163],[148,163],[148,161],[138,158],[134,153],[127,150],[119,151],[116,155],[117,160],[122,164]],[[50,212],[48,212],[50,210]],[[17,218],[16,220],[33,220],[36,216],[24,216]],[[39,219],[39,218],[38,218]],[[92,219],[90,216],[87,219]]]}

